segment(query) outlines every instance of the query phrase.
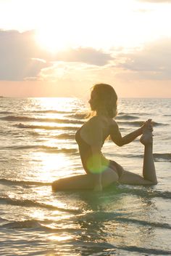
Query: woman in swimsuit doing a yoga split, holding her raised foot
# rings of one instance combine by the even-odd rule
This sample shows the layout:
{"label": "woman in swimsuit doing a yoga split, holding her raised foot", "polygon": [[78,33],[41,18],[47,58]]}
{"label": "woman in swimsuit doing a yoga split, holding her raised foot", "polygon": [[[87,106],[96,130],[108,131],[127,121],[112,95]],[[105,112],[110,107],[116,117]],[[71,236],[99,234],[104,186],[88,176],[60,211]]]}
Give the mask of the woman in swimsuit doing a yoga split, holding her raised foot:
{"label": "woman in swimsuit doing a yoga split, holding her raised foot", "polygon": [[[109,84],[96,84],[89,100],[91,111],[95,113],[83,126],[78,129],[75,139],[79,146],[80,158],[86,175],[77,175],[56,180],[52,189],[93,189],[102,191],[111,183],[154,185],[157,176],[152,156],[152,126],[151,119],[134,132],[122,137],[114,117],[117,115],[117,94]],[[143,177],[133,172],[125,171],[120,164],[106,159],[101,148],[107,137],[119,145],[131,143],[141,136],[141,143],[145,145],[143,157]]]}

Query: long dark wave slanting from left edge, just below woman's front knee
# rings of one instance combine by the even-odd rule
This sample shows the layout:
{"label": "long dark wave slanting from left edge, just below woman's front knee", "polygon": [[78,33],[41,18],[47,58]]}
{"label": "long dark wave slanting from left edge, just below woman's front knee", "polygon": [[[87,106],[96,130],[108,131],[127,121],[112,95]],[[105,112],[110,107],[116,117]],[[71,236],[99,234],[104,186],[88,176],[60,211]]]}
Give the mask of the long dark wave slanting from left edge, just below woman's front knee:
{"label": "long dark wave slanting from left edge, just below woman's front knee", "polygon": [[9,197],[1,197],[0,202],[2,204],[16,205],[21,207],[37,207],[37,208],[51,209],[55,211],[58,210],[60,212],[80,213],[80,210],[77,210],[77,209],[65,209],[62,207],[56,207],[51,204],[42,204],[42,203],[39,203],[38,201],[33,201],[30,199],[20,200],[20,199],[11,199]]}

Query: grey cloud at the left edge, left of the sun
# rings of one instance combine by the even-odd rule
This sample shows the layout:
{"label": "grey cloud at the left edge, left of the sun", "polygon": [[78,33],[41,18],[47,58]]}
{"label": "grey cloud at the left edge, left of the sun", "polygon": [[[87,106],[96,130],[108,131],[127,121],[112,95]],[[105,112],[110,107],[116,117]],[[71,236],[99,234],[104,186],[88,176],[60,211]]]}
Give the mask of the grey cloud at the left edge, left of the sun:
{"label": "grey cloud at the left edge, left of the sun", "polygon": [[0,79],[36,77],[41,68],[48,66],[46,61],[34,58],[37,50],[33,31],[0,31]]}

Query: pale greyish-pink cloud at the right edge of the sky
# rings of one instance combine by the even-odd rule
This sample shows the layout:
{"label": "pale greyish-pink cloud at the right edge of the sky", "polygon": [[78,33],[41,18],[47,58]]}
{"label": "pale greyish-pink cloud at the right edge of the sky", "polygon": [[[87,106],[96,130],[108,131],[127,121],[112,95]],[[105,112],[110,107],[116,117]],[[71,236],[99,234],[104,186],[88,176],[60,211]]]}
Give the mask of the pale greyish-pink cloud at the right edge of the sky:
{"label": "pale greyish-pink cloud at the right edge of the sky", "polygon": [[[117,67],[122,68],[127,77],[156,80],[171,79],[171,39],[169,38],[146,44],[141,50],[118,55],[118,57],[120,57],[122,63],[118,59],[120,63],[117,64]],[[123,77],[124,74],[120,73],[119,76]]]}

